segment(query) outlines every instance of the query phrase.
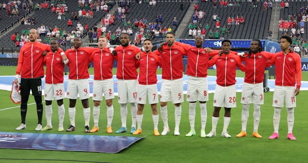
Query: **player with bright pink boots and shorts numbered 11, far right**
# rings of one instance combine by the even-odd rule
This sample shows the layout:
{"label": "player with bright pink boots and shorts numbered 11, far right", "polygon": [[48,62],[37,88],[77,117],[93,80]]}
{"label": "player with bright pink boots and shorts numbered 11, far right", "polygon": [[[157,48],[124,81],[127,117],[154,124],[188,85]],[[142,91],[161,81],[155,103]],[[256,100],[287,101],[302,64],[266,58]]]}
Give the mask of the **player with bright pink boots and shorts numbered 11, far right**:
{"label": "player with bright pink boots and shorts numbered 11, far right", "polygon": [[[296,107],[296,96],[300,93],[302,80],[302,64],[301,58],[296,52],[290,52],[290,44],[292,44],[291,37],[284,35],[280,38],[281,52],[277,53],[269,62],[269,65],[275,63],[275,89],[273,95],[274,107],[274,133],[269,139],[279,138],[279,122],[281,108],[286,108],[288,112],[288,135],[290,140],[296,140],[293,136],[292,130],[294,125],[294,107]],[[295,86],[296,84],[296,86]]]}

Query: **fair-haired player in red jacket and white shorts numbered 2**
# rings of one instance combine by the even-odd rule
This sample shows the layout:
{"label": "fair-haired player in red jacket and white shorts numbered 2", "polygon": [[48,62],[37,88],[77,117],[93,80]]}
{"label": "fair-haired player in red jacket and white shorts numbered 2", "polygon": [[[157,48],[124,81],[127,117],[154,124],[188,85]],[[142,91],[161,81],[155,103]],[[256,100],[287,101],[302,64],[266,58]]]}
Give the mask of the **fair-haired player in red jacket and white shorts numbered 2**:
{"label": "fair-haired player in red jacket and white shorts numbered 2", "polygon": [[114,98],[112,65],[114,56],[111,54],[112,48],[107,47],[108,40],[104,36],[98,38],[98,48],[91,53],[90,62],[93,61],[94,81],[93,81],[93,119],[94,126],[90,132],[97,132],[98,118],[100,112],[100,101],[104,94],[107,105],[107,133],[112,133],[113,105]]}

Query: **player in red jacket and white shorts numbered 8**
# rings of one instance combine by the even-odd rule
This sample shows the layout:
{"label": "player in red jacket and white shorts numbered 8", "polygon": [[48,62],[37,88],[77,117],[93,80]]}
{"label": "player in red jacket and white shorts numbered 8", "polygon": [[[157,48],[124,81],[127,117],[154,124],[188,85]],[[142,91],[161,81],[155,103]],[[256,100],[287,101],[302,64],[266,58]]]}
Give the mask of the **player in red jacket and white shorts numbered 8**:
{"label": "player in red jacket and white shorts numbered 8", "polygon": [[[206,102],[209,100],[208,96],[208,63],[211,56],[217,55],[220,50],[213,50],[210,54],[208,49],[203,49],[204,38],[202,36],[196,36],[195,45],[191,46],[185,43],[181,43],[187,51],[187,71],[188,86],[187,86],[187,98],[189,102],[189,123],[190,131],[186,136],[196,135],[195,131],[195,115],[196,115],[196,102],[199,101],[200,114],[201,114],[201,137],[206,137],[205,125],[207,121],[207,109]],[[215,52],[214,52],[215,51]]]}

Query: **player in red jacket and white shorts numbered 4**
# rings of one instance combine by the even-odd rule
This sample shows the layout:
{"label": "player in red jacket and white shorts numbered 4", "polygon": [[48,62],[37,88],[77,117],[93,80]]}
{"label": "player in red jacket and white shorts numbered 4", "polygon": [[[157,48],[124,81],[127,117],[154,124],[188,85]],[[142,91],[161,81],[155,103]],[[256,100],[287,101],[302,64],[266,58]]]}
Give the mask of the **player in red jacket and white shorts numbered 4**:
{"label": "player in red jacket and white shorts numbered 4", "polygon": [[66,130],[67,132],[74,131],[75,128],[75,115],[76,115],[76,100],[79,94],[83,106],[84,116],[84,131],[90,132],[90,107],[89,107],[89,72],[88,62],[91,52],[95,49],[93,47],[81,47],[82,39],[80,37],[74,38],[73,48],[65,51],[69,60],[71,61],[68,66],[70,69],[67,98],[70,99],[69,117],[71,125]]}

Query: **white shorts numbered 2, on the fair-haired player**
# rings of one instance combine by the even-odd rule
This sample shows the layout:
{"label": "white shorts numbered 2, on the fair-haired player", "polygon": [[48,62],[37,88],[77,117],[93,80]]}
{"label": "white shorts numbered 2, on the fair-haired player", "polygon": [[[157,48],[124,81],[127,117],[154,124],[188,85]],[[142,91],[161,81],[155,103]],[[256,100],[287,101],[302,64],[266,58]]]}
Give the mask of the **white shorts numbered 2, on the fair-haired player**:
{"label": "white shorts numbered 2, on the fair-haired player", "polygon": [[103,94],[106,100],[114,98],[113,91],[113,80],[94,80],[93,81],[93,97],[92,99],[95,101],[101,101],[103,99]]}

